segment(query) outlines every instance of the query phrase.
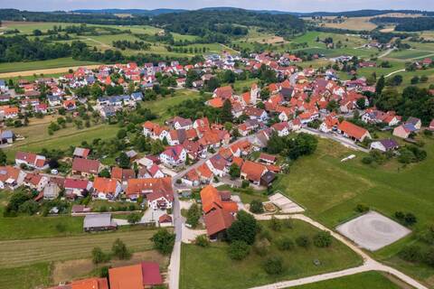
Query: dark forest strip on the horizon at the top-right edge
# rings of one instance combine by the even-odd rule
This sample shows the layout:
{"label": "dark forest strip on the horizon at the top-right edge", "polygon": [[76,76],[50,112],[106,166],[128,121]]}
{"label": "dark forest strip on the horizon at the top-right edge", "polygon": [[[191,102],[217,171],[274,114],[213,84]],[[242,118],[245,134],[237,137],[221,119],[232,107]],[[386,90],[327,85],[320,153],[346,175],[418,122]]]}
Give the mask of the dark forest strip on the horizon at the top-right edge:
{"label": "dark forest strip on the horizon at the top-right edge", "polygon": [[376,24],[397,24],[395,31],[434,30],[434,17],[378,17],[371,19]]}

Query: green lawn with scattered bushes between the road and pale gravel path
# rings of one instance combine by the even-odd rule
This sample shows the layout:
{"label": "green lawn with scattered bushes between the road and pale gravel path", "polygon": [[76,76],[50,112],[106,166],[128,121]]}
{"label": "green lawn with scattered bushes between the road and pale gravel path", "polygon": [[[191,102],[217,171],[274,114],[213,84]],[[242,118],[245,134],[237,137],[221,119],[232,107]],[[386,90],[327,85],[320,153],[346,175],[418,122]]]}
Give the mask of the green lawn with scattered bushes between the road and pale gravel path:
{"label": "green lawn with scattered bushes between the road and pale gravel path", "polygon": [[[263,223],[268,226],[268,223]],[[317,229],[307,223],[294,220],[292,229],[285,228],[273,233],[273,237],[287,235],[297,238],[301,235],[312,237]],[[271,254],[278,254],[284,259],[285,271],[281,275],[267,275],[262,268],[263,258],[250,252],[250,256],[242,261],[233,261],[227,254],[226,243],[212,243],[211,247],[182,245],[181,277],[182,289],[205,288],[249,288],[261,284],[269,284],[281,280],[297,279],[307,275],[342,270],[358,266],[362,260],[344,244],[334,240],[329,248],[296,247],[291,251],[278,251],[275,245],[270,246]],[[321,262],[320,266],[314,260]]]}

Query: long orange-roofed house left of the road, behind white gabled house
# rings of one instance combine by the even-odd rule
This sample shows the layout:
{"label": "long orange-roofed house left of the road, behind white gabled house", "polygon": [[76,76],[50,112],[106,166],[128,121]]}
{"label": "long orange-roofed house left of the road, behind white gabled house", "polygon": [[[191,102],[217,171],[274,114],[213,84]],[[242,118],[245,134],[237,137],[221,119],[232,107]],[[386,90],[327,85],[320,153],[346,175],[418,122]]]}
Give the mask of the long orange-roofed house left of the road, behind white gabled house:
{"label": "long orange-roofed house left of the road, behind white gabled house", "polygon": [[[126,194],[130,200],[137,200],[139,196],[147,196],[152,192],[161,192],[165,195],[174,194],[172,187],[172,178],[158,178],[158,179],[129,179],[127,181]],[[170,197],[167,197],[170,199]]]}

